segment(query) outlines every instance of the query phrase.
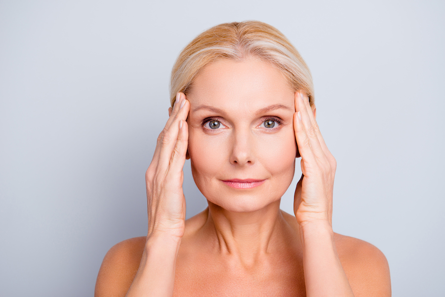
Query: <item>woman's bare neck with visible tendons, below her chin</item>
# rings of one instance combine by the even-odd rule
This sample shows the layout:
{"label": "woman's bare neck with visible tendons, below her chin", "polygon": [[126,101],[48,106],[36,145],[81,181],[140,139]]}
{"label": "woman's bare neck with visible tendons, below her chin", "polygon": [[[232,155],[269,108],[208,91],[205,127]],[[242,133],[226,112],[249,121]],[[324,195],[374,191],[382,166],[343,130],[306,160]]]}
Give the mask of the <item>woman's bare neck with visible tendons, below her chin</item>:
{"label": "woman's bare neck with visible tendons, below her chin", "polygon": [[250,265],[264,255],[282,250],[285,245],[286,230],[291,228],[279,204],[278,200],[255,212],[228,212],[209,202],[207,231],[216,235],[220,253],[234,255]]}

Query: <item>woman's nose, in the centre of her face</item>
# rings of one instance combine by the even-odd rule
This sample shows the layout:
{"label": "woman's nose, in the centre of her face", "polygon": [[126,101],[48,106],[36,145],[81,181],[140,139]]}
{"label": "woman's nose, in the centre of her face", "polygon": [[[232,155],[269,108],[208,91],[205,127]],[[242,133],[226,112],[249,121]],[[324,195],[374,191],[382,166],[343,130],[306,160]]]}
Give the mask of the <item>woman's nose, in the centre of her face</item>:
{"label": "woman's nose, in the centre of her face", "polygon": [[230,163],[245,166],[254,164],[254,137],[249,132],[235,132],[232,135]]}

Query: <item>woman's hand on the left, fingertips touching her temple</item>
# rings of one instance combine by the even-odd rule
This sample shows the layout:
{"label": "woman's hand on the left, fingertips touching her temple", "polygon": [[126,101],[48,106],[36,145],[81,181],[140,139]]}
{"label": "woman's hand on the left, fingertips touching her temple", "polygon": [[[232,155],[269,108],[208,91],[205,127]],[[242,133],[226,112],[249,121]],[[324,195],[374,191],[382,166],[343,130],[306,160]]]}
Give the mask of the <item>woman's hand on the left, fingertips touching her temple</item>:
{"label": "woman's hand on the left, fingertips touching her temple", "polygon": [[148,236],[168,235],[180,239],[185,229],[185,197],[182,191],[188,144],[187,119],[190,103],[178,93],[170,118],[159,134],[153,160],[145,173]]}

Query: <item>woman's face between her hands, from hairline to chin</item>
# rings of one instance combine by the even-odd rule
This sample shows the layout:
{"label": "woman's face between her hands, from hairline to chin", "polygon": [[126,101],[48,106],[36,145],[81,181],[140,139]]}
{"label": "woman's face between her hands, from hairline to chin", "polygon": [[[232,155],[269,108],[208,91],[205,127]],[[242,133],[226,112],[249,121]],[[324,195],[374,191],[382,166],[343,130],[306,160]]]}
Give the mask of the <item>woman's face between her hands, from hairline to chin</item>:
{"label": "woman's face between her hands, from hairline to chin", "polygon": [[259,59],[206,66],[187,93],[188,152],[204,196],[231,212],[281,198],[295,170],[294,91]]}

